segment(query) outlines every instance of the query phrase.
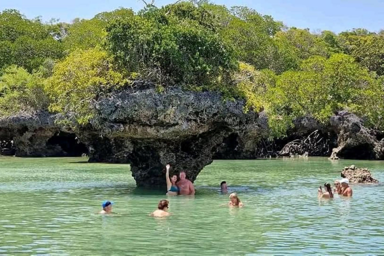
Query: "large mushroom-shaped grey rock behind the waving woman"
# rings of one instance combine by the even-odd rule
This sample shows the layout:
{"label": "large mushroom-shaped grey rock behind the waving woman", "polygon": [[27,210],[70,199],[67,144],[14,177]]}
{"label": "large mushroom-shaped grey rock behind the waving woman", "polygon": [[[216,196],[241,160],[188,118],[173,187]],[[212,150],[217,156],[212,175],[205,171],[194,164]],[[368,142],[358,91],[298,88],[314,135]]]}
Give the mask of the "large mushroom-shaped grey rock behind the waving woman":
{"label": "large mushroom-shaped grey rock behind the waving woman", "polygon": [[230,134],[257,133],[258,114],[243,106],[215,92],[124,90],[98,99],[79,136],[89,161],[129,162],[138,186],[165,186],[167,163],[193,181]]}

